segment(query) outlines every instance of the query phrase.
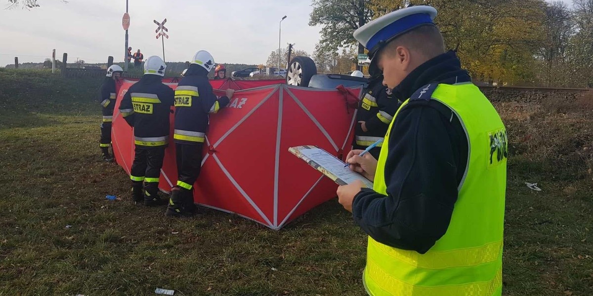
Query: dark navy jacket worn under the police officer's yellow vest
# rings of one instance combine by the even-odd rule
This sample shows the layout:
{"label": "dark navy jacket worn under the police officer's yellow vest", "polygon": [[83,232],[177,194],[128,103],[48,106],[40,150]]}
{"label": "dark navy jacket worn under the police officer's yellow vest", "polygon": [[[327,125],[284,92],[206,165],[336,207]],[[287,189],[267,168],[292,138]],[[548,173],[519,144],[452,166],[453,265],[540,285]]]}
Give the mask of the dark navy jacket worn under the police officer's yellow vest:
{"label": "dark navy jacket worn under the police officer's yellow vest", "polygon": [[[413,70],[393,94],[404,101],[429,83],[469,81],[448,52]],[[382,244],[426,253],[449,227],[466,169],[467,137],[453,111],[435,99],[411,98],[394,120],[384,172],[388,195],[362,189],[353,218]]]}

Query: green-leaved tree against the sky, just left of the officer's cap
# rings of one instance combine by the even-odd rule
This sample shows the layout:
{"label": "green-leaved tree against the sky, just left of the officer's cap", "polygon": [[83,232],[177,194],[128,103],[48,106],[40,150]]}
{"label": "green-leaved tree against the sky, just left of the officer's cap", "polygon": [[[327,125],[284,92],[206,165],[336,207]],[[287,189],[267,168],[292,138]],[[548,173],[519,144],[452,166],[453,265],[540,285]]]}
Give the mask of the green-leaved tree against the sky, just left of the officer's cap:
{"label": "green-leaved tree against the sky, just left of the officer's cap", "polygon": [[[358,44],[352,33],[371,20],[374,12],[368,0],[313,0],[309,25],[322,25],[318,52],[335,52],[337,49]],[[358,44],[358,53],[364,46]]]}

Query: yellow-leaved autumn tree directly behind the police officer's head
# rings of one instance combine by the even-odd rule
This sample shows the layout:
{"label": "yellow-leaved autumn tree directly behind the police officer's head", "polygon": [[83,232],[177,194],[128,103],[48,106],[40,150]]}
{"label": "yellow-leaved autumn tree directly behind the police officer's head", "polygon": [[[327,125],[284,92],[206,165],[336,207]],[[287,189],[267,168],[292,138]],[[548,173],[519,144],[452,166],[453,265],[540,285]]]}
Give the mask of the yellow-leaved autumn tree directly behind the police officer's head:
{"label": "yellow-leaved autumn tree directly behind the police officer's head", "polygon": [[371,8],[378,17],[410,4],[438,10],[445,44],[458,50],[474,78],[533,81],[534,56],[545,39],[544,0],[373,0]]}

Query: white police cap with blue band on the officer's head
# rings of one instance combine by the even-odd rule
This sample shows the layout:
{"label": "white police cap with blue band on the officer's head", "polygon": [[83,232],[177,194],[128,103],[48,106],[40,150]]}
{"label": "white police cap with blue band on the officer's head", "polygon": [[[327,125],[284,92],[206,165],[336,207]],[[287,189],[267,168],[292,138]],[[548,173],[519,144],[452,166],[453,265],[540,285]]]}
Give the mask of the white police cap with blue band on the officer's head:
{"label": "white police cap with blue band on the officer's head", "polygon": [[354,38],[369,50],[371,67],[373,57],[391,40],[422,25],[434,25],[436,9],[426,5],[398,9],[354,31]]}

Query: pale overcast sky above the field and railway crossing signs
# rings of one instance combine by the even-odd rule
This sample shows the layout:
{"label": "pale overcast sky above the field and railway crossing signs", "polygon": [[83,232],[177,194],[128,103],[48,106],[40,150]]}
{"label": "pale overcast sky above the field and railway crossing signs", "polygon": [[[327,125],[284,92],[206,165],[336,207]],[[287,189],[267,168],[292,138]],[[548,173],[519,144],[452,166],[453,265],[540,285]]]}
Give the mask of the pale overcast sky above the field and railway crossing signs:
{"label": "pale overcast sky above the field and railway crossing signs", "polygon": [[[570,0],[563,0],[570,4]],[[88,63],[123,60],[125,0],[39,0],[40,8],[3,9],[0,0],[0,67],[19,62],[43,62],[56,49],[58,59],[68,53]],[[320,27],[309,27],[310,0],[129,0],[130,46],[145,57],[162,56],[153,20],[167,18],[165,60],[184,62],[197,50],[208,50],[218,63],[265,63],[278,49],[278,22],[282,47],[313,53]]]}

